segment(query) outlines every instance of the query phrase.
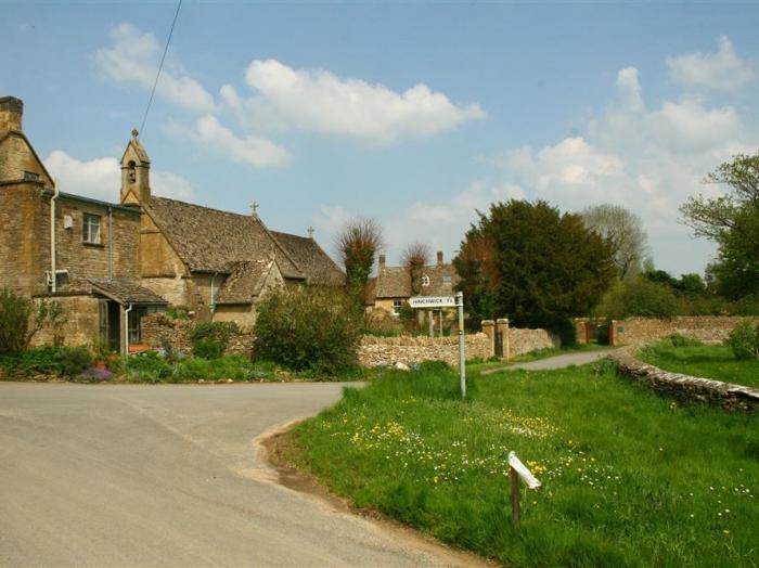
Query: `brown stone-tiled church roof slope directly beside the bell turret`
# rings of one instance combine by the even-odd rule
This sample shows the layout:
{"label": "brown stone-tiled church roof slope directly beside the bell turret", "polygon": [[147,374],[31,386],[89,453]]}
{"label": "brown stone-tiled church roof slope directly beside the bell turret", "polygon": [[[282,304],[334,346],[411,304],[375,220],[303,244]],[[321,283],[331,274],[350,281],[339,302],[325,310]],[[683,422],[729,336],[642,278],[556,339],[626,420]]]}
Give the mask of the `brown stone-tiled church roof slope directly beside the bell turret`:
{"label": "brown stone-tiled church roof slope directly beside the bell turret", "polygon": [[285,279],[304,280],[258,217],[151,197],[145,208],[190,270],[230,273],[235,262],[274,258]]}

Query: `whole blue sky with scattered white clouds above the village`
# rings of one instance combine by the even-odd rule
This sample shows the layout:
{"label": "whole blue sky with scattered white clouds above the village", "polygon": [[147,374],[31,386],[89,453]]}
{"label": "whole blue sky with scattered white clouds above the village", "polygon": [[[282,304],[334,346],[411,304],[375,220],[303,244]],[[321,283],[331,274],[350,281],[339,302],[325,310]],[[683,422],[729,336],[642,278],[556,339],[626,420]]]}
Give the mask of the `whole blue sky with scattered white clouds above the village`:
{"label": "whole blue sky with scattered white clouds above the village", "polygon": [[[118,201],[176,2],[2,3],[0,95],[62,191]],[[140,139],[153,192],[450,259],[511,198],[641,217],[657,268],[715,246],[679,207],[759,150],[759,3],[182,3]]]}

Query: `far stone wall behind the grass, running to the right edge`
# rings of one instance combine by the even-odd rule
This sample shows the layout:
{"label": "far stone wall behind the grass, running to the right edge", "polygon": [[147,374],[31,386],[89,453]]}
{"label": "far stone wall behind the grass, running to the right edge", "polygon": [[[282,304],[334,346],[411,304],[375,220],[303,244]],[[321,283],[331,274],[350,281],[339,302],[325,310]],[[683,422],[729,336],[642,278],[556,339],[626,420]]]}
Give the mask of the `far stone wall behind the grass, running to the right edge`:
{"label": "far stone wall behind the grass, running to the right edge", "polygon": [[[628,318],[612,322],[614,345],[643,345],[672,334],[687,335],[707,344],[724,341],[746,318],[735,315],[679,315],[671,319]],[[759,322],[759,318],[749,318]]]}

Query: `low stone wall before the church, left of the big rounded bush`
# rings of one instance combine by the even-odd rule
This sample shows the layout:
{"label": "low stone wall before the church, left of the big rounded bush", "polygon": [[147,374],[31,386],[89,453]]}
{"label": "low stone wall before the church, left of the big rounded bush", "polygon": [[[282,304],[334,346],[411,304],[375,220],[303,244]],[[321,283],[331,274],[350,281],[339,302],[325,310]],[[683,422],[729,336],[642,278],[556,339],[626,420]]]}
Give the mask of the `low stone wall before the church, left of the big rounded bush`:
{"label": "low stone wall before the church, left of the big rounded bush", "polygon": [[[175,351],[189,353],[192,351],[190,334],[195,325],[192,320],[175,320],[165,313],[153,313],[142,318],[140,322],[142,344],[157,349],[168,347]],[[224,353],[249,357],[253,352],[255,335],[249,330],[233,333]]]}

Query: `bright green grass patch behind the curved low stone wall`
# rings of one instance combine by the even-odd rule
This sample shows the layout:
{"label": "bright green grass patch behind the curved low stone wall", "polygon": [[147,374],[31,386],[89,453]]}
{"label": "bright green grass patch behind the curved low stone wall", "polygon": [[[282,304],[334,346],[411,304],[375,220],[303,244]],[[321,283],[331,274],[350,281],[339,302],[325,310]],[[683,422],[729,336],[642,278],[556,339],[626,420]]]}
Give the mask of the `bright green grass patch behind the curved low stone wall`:
{"label": "bright green grass patch behind the curved low stone wall", "polygon": [[638,358],[665,371],[759,388],[759,360],[738,361],[726,346],[662,341],[641,349]]}

